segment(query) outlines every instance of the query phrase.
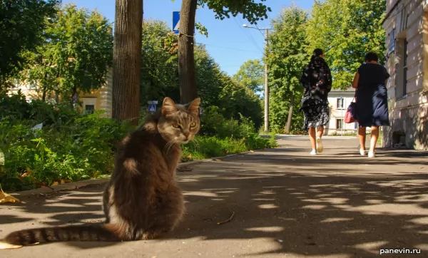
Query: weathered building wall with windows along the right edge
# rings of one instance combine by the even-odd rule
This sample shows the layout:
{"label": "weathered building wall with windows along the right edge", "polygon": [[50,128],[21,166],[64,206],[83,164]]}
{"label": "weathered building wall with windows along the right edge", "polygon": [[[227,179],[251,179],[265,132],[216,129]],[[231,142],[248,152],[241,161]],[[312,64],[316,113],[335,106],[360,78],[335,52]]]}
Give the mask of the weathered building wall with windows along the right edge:
{"label": "weathered building wall with windows along the right edge", "polygon": [[[387,1],[388,105],[391,126],[384,127],[384,147],[397,144],[428,150],[427,30],[425,0]],[[407,49],[405,45],[407,41]],[[425,68],[425,70],[424,70]]]}

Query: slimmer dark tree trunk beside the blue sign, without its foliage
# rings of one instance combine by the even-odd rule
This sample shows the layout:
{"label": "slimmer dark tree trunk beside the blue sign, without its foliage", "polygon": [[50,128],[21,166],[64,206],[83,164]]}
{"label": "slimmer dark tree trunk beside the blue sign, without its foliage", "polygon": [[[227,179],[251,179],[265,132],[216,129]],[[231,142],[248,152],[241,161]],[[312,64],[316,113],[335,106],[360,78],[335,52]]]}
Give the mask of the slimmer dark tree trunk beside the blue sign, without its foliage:
{"label": "slimmer dark tree trunk beside the blue sign, without its foliage", "polygon": [[193,32],[198,0],[183,0],[180,11],[178,36],[178,73],[180,78],[180,102],[189,103],[198,98],[195,76]]}

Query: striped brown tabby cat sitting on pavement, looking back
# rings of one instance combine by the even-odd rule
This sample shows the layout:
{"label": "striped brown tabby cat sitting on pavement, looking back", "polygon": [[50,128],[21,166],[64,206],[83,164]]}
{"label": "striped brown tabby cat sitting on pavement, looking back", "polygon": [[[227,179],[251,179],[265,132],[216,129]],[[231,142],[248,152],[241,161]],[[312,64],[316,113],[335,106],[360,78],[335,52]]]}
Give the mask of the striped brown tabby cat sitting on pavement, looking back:
{"label": "striped brown tabby cat sitting on pavement, looking back", "polygon": [[185,212],[183,194],[175,183],[180,144],[193,140],[200,129],[199,105],[200,98],[180,105],[167,97],[157,113],[119,143],[103,192],[105,224],[11,232],[3,249],[47,242],[154,239],[173,230]]}

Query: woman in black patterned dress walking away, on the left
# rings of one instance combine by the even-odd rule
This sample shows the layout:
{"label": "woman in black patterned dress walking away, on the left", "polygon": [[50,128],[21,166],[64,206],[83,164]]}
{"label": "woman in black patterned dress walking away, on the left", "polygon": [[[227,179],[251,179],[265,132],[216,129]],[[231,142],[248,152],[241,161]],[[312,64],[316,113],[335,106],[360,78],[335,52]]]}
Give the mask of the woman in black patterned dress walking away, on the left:
{"label": "woman in black patterned dress walking away, on the left", "polygon": [[[330,120],[330,108],[327,96],[332,88],[332,74],[324,60],[322,49],[315,49],[310,62],[303,68],[302,86],[305,88],[300,110],[305,113],[303,130],[309,130],[311,155],[322,153],[322,134],[324,126]],[[317,129],[315,129],[317,128]]]}

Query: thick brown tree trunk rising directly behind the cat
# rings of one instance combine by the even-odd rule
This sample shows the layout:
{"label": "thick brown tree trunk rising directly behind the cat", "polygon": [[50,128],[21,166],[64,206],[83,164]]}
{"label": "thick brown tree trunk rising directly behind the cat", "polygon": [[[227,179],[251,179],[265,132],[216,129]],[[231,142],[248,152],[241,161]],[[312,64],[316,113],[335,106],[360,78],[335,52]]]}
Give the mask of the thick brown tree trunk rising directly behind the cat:
{"label": "thick brown tree trunk rising directly behind the cat", "polygon": [[138,125],[140,118],[143,0],[116,0],[113,42],[113,118]]}

